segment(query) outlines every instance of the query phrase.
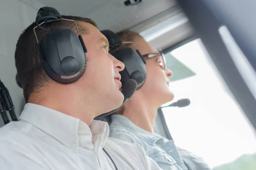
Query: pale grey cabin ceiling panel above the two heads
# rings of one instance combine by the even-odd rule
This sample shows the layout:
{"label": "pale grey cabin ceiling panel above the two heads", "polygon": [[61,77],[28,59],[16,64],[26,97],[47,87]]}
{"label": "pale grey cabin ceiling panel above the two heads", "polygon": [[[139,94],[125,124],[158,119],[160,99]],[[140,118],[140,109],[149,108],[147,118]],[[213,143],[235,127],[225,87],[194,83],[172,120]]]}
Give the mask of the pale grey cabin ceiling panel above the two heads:
{"label": "pale grey cabin ceiling panel above the two heads", "polygon": [[121,31],[159,14],[177,2],[175,0],[143,0],[134,6],[125,6],[125,0],[38,0],[56,8],[61,14],[91,18],[99,29]]}

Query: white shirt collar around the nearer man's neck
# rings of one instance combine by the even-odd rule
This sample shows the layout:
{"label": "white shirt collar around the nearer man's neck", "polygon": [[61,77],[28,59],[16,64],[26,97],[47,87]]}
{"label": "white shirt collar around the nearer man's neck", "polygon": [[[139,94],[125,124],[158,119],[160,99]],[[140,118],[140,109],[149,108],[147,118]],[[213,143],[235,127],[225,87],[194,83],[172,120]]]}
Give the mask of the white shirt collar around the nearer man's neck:
{"label": "white shirt collar around the nearer man's neck", "polygon": [[81,136],[82,147],[93,150],[96,147],[102,149],[109,134],[106,122],[93,120],[88,126],[75,117],[32,103],[25,105],[20,119],[38,127],[75,152],[78,152]]}

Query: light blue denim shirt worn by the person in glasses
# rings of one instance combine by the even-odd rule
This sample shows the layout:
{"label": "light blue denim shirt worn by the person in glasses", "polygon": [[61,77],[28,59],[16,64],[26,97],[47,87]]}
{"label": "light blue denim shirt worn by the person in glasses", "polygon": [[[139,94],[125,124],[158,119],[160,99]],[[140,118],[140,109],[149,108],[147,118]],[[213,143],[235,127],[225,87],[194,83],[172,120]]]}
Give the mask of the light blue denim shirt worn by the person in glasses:
{"label": "light blue denim shirt worn by the person in glasses", "polygon": [[140,144],[163,170],[210,170],[202,158],[176,147],[173,140],[137,127],[125,116],[112,115],[111,118],[109,137]]}

